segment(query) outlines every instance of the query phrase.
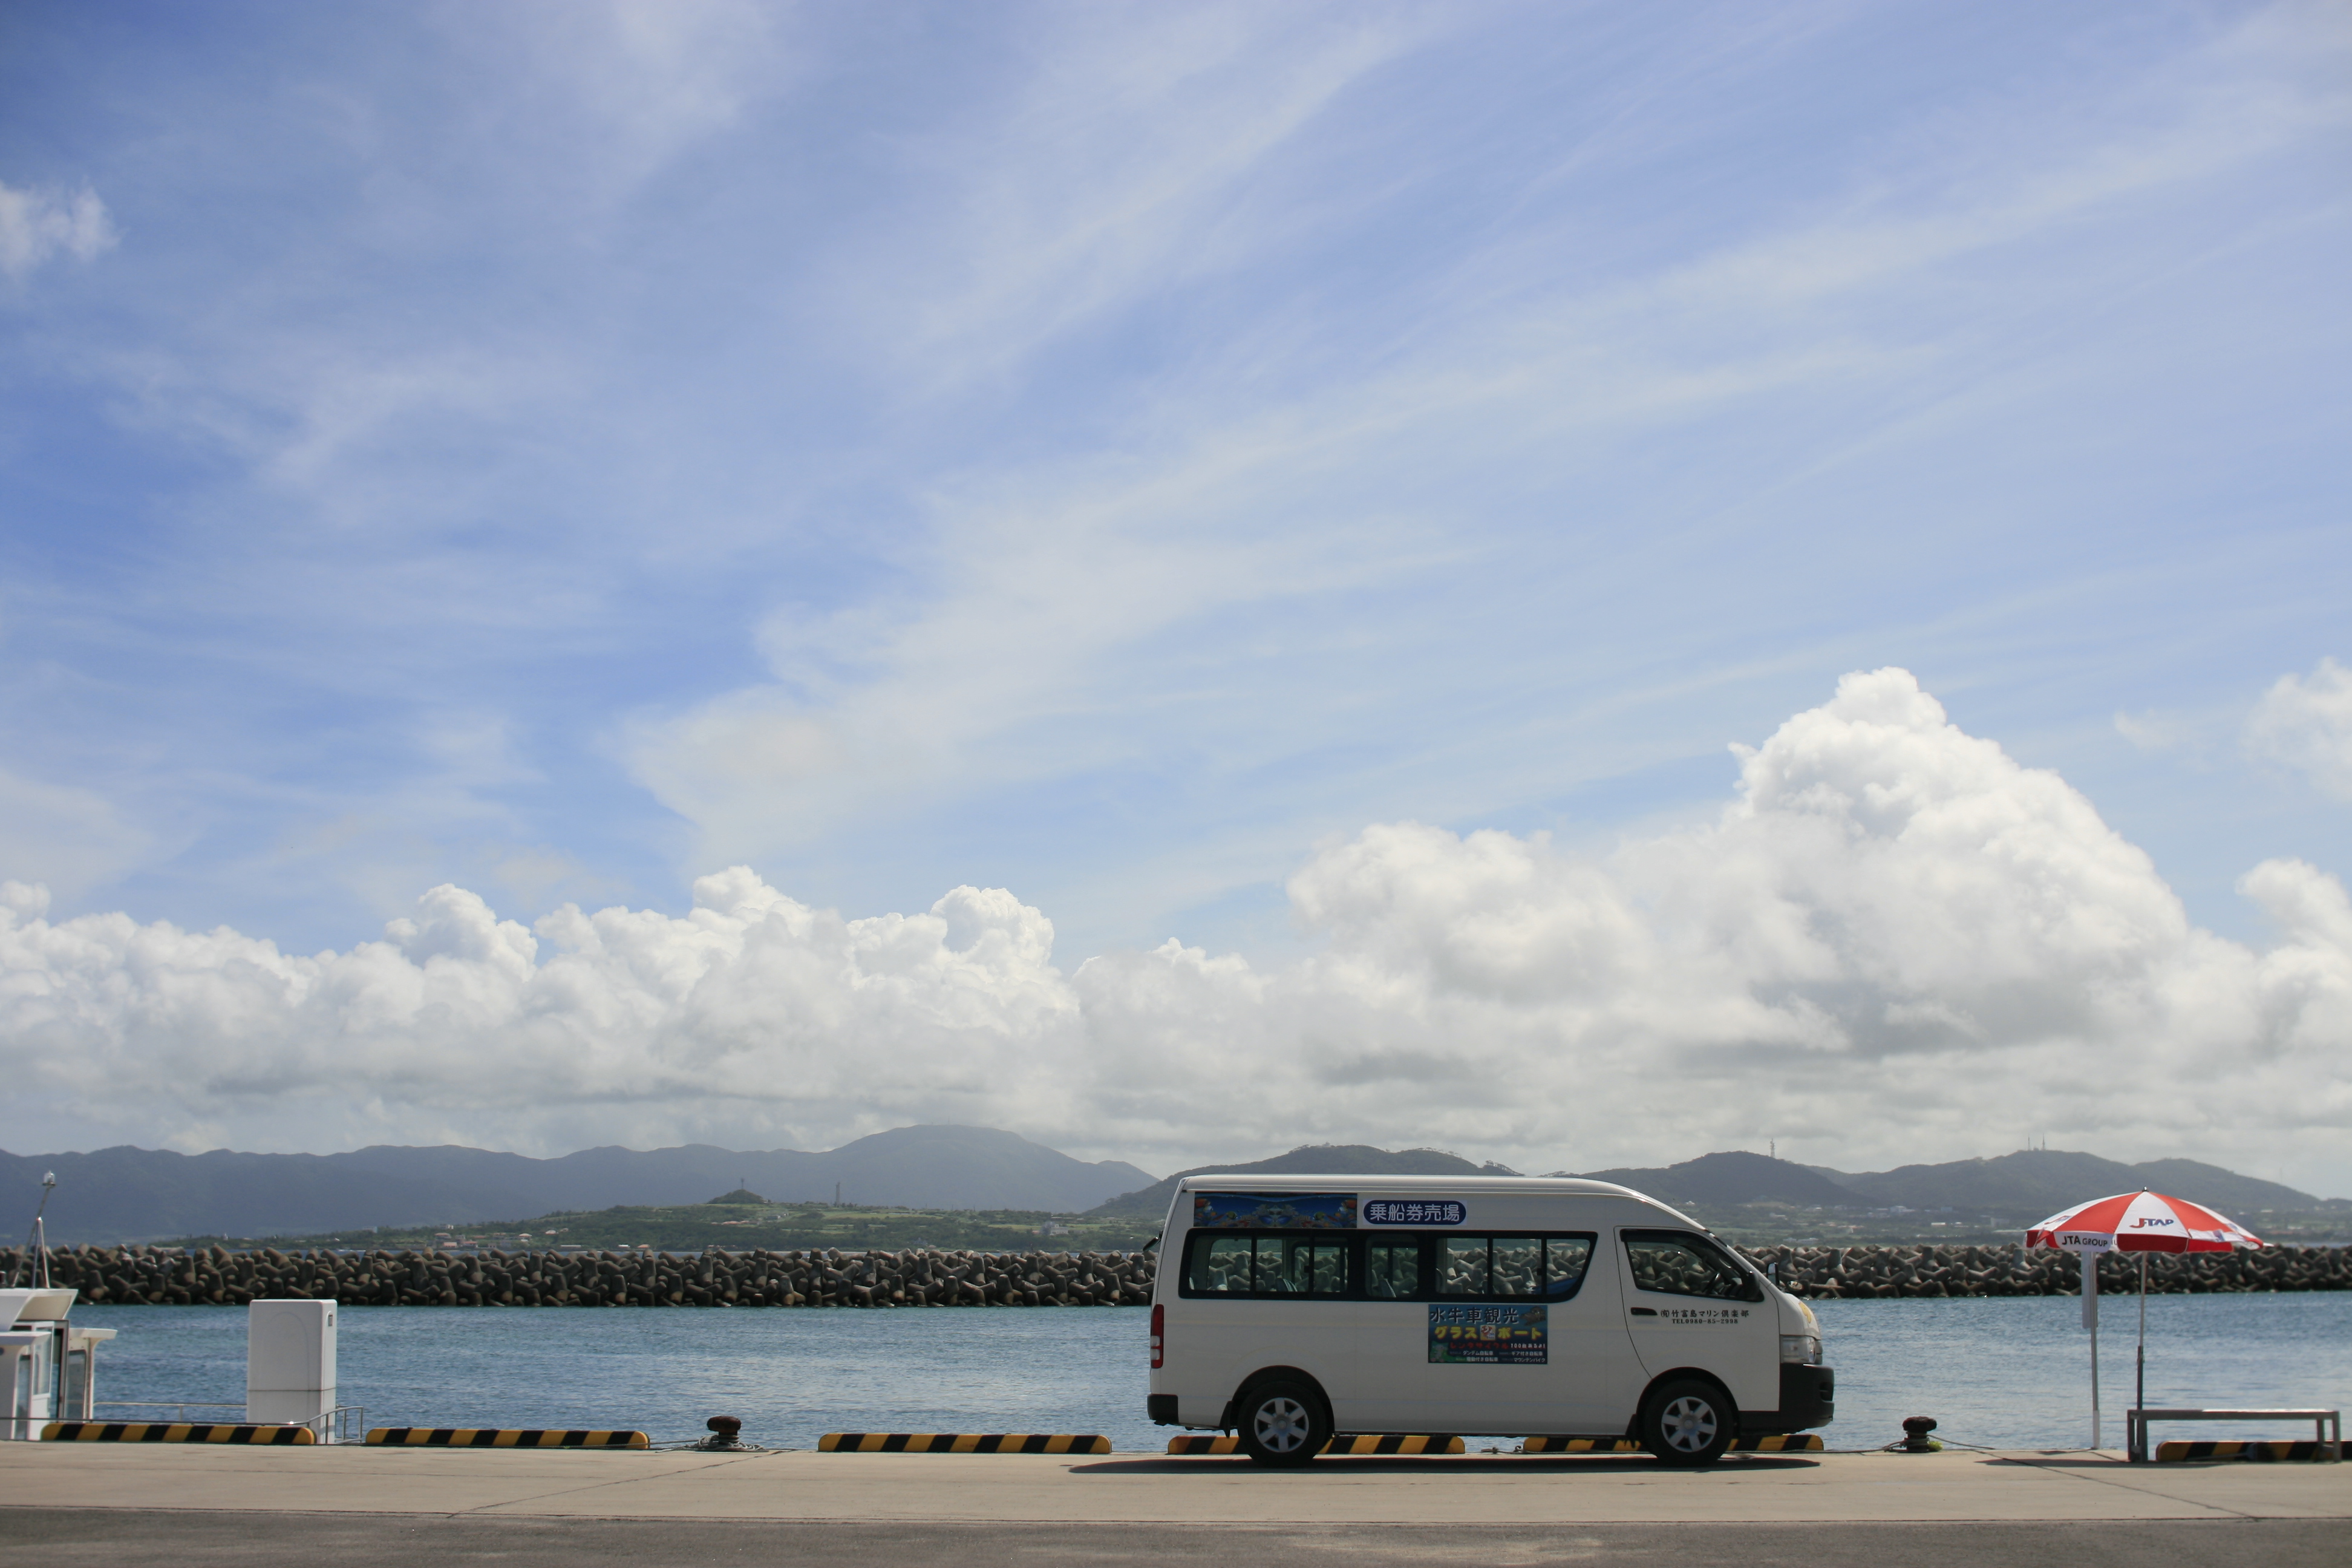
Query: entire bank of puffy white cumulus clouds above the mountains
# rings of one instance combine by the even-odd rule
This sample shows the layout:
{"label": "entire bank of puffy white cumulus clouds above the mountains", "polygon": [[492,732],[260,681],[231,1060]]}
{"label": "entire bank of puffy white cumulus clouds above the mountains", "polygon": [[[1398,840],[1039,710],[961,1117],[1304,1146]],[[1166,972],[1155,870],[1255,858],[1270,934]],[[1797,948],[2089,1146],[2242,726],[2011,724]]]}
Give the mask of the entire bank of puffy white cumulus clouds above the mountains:
{"label": "entire bank of puffy white cumulus clouds above the mountains", "polygon": [[[2190,924],[2063,778],[1903,670],[1740,748],[1710,823],[1606,856],[1383,823],[1291,879],[1322,945],[1054,964],[1007,891],[844,919],[748,870],[694,910],[536,926],[442,886],[383,940],[280,954],[0,900],[5,1138],[823,1145],[910,1119],[1174,1166],[1310,1138],[1534,1168],[1762,1147],[1846,1166],[2016,1147],[2352,1185],[2352,900],[2267,860],[2279,938]],[[28,1143],[31,1140],[31,1143]]]}

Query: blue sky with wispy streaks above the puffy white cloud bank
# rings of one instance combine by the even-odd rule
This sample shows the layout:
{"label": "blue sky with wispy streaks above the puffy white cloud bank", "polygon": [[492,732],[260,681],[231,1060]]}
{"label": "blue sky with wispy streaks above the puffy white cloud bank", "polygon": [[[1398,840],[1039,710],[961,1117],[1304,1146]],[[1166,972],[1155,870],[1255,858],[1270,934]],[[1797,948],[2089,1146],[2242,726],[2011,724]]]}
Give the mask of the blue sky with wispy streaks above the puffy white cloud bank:
{"label": "blue sky with wispy streaks above the puffy white cloud bank", "polygon": [[2352,867],[2333,710],[2256,724],[2352,658],[2347,59],[2331,5],[14,5],[0,875],[315,952],[748,865],[1284,964],[1319,846],[1602,856],[1896,665],[2260,947],[2251,867]]}

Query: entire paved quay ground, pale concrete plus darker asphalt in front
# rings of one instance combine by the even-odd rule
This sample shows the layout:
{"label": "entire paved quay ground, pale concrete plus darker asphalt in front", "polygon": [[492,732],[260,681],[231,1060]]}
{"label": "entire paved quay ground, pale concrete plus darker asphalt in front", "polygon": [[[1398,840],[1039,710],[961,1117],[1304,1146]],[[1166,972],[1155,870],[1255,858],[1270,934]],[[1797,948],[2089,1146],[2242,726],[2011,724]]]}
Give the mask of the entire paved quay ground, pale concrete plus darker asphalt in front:
{"label": "entire paved quay ground, pale concrete plus darker asphalt in front", "polygon": [[2352,1563],[2352,1465],[0,1446],[14,1561]]}

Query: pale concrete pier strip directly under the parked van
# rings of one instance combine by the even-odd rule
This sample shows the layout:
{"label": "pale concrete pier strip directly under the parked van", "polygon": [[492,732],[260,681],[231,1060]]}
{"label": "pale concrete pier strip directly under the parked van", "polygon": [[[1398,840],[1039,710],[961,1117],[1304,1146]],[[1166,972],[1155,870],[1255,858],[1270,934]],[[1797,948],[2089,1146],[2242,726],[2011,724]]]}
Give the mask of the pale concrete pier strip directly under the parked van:
{"label": "pale concrete pier strip directly under the parked van", "polygon": [[[2119,1455],[1249,1460],[1143,1453],[546,1453],[9,1443],[0,1490],[73,1509],[543,1519],[1559,1523],[1879,1519],[2336,1519],[2352,1465],[2124,1465]],[[2352,1544],[2352,1535],[2347,1535]]]}

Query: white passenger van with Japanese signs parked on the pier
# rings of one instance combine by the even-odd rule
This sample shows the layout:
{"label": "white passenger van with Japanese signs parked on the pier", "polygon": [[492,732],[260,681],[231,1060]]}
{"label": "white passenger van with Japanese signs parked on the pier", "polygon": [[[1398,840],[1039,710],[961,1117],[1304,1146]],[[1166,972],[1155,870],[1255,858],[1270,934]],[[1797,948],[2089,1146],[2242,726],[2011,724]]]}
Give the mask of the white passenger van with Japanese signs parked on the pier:
{"label": "white passenger van with Japanese signs parked on the pier", "polygon": [[1192,1175],[1152,1286],[1150,1418],[1263,1465],[1334,1432],[1637,1439],[1708,1465],[1823,1427],[1820,1321],[1656,1199],[1526,1175]]}

